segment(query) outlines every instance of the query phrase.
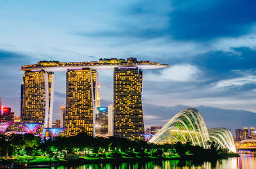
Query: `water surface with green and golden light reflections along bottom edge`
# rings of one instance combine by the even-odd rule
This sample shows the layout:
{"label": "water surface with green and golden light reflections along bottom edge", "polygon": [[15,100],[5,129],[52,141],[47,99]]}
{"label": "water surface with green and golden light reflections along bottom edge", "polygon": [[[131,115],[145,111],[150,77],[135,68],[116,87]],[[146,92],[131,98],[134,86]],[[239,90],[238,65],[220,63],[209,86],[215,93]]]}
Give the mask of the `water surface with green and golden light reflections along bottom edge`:
{"label": "water surface with green and golden light reflections along bottom edge", "polygon": [[256,157],[241,154],[240,158],[221,159],[215,162],[193,164],[191,161],[166,160],[147,163],[105,163],[81,166],[58,166],[54,169],[256,169]]}

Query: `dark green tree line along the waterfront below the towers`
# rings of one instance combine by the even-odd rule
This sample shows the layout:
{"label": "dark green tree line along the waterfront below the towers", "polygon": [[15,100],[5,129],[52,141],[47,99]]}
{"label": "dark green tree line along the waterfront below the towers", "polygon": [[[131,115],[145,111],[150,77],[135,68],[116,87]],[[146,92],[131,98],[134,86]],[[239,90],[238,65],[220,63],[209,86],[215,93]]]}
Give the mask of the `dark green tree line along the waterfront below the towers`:
{"label": "dark green tree line along the waterfront below the towers", "polygon": [[144,140],[129,140],[117,136],[99,138],[79,133],[76,136],[57,136],[42,139],[32,134],[0,135],[0,156],[45,156],[61,159],[67,156],[88,158],[157,157],[157,158],[220,158],[228,154],[214,142],[208,142],[209,149],[193,146],[190,142],[155,144]]}

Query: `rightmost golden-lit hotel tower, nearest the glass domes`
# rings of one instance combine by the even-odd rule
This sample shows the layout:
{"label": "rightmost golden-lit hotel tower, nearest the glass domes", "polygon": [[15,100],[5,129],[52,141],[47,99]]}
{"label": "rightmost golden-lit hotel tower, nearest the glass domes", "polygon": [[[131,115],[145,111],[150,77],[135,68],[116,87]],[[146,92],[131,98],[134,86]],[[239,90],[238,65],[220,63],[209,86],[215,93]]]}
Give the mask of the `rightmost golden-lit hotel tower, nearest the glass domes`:
{"label": "rightmost golden-lit hotel tower, nearest the glass domes", "polygon": [[129,139],[144,134],[141,105],[142,71],[136,66],[114,70],[114,128],[115,136]]}

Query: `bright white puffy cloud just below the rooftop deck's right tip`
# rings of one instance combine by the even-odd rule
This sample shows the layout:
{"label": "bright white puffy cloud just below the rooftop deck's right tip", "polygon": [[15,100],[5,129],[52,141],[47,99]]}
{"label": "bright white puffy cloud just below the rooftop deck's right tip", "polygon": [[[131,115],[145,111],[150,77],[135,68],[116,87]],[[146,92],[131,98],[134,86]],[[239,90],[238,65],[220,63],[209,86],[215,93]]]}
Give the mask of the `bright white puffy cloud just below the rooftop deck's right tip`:
{"label": "bright white puffy cloud just below the rooftop deck's right tip", "polygon": [[195,82],[201,71],[191,64],[175,64],[160,71],[160,74],[148,73],[144,76],[145,81],[173,81],[173,82]]}

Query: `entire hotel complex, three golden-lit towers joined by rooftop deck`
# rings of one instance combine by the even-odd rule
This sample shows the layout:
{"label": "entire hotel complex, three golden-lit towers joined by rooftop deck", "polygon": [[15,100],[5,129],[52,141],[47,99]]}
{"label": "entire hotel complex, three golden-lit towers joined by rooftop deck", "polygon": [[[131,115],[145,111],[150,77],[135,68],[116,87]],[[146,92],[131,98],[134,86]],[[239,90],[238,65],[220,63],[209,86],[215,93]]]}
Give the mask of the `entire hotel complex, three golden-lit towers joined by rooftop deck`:
{"label": "entire hotel complex, three golden-lit towers joined by rooftop deck", "polygon": [[[114,105],[109,107],[108,133],[132,140],[143,138],[142,70],[166,67],[168,64],[137,61],[133,57],[127,58],[127,61],[116,58],[100,59],[99,62],[40,61],[22,66],[21,121],[42,122],[44,128],[52,127],[53,72],[65,71],[67,93],[65,114],[62,114],[65,115],[63,127],[67,128],[65,136],[74,136],[83,131],[95,136],[95,115],[97,107],[100,107],[97,70],[113,70]],[[42,127],[38,133],[44,136],[45,129]]]}

